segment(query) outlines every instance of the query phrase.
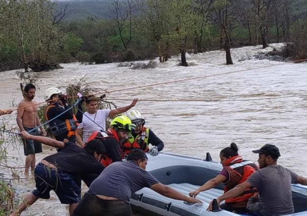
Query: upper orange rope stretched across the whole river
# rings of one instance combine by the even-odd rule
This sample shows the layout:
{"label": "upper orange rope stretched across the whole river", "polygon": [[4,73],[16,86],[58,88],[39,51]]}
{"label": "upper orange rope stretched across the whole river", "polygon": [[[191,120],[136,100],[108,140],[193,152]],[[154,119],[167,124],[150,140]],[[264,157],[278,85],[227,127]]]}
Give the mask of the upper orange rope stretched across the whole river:
{"label": "upper orange rope stretched across the whole river", "polygon": [[[296,61],[293,61],[293,63],[303,62],[303,61],[307,61],[307,59],[296,60]],[[271,65],[266,65],[266,66],[262,66],[262,67],[250,68],[250,69],[235,70],[235,71],[230,71],[230,72],[220,73],[220,74],[213,74],[213,75],[206,75],[206,76],[201,76],[201,77],[193,77],[193,78],[187,78],[187,79],[173,80],[173,81],[168,81],[168,82],[155,83],[155,84],[149,84],[149,85],[144,85],[144,86],[136,86],[136,87],[130,87],[130,88],[124,88],[124,89],[115,89],[115,90],[111,90],[111,91],[106,91],[106,93],[112,93],[112,92],[118,92],[118,91],[126,91],[126,90],[145,88],[145,87],[151,87],[151,86],[158,86],[158,85],[170,84],[170,83],[176,83],[176,82],[182,82],[182,81],[197,80],[197,79],[203,79],[203,78],[208,78],[208,77],[215,77],[215,76],[220,76],[220,75],[228,75],[228,74],[240,73],[240,72],[254,70],[254,69],[261,69],[261,68],[266,68],[266,67],[282,65],[282,64],[284,64],[284,62],[283,63],[279,63],[279,64],[271,64]],[[89,94],[89,95],[84,95],[84,96],[86,97],[86,96],[97,95],[97,94],[102,94],[102,93],[99,92],[99,93],[94,93],[94,94]],[[78,97],[78,96],[69,96],[67,98],[76,98],[76,97]],[[48,101],[36,103],[36,104],[33,104],[33,105],[19,107],[17,109],[13,109],[13,111],[20,110],[20,109],[25,109],[27,107],[34,106],[34,105],[39,105],[39,104],[42,104],[42,103],[45,103],[45,102],[49,102],[49,101],[53,101],[53,100],[48,100]]]}

